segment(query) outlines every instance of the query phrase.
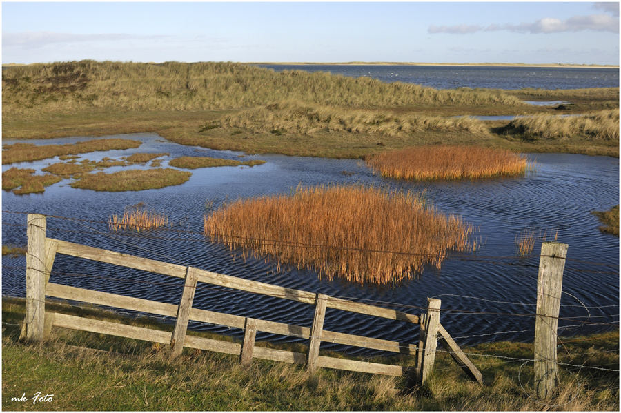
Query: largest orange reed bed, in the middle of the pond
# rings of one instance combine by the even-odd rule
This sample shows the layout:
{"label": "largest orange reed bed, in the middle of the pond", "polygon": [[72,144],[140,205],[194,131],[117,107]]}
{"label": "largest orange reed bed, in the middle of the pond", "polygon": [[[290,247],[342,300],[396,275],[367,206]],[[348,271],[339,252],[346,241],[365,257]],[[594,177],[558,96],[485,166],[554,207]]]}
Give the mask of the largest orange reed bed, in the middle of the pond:
{"label": "largest orange reed bed, in the middle of the pond", "polygon": [[205,234],[244,257],[314,270],[355,283],[411,279],[440,268],[449,250],[469,251],[473,232],[420,195],[362,186],[298,187],[292,195],[239,199],[204,218]]}

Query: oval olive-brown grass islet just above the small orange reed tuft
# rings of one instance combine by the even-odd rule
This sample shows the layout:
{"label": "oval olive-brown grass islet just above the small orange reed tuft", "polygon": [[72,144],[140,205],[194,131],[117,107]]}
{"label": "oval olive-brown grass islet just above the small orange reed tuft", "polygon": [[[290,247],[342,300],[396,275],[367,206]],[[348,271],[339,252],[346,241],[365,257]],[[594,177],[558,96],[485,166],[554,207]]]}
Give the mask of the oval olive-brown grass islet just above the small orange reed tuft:
{"label": "oval olive-brown grass islet just above the small orange reed tuft", "polygon": [[79,180],[71,183],[72,188],[95,191],[122,192],[159,189],[171,185],[181,185],[190,179],[191,172],[172,168],[155,168],[150,170],[124,170],[106,174],[83,174]]}

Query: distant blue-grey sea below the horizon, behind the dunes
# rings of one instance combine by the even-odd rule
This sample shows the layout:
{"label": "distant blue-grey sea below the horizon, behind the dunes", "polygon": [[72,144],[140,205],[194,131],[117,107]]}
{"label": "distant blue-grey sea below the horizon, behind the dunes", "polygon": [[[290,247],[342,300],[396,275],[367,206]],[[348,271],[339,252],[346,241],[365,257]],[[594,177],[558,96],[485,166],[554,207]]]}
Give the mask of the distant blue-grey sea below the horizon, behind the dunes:
{"label": "distant blue-grey sea below the horizon, behind the dunes", "polygon": [[582,89],[618,88],[618,68],[522,68],[491,66],[257,65],[276,71],[331,72],[416,83],[436,89]]}

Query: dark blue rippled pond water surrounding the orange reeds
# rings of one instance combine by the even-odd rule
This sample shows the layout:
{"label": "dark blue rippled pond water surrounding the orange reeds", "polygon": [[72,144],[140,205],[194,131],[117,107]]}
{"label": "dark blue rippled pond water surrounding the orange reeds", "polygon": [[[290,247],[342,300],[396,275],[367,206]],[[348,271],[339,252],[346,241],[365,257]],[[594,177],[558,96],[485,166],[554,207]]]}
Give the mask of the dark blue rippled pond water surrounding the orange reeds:
{"label": "dark blue rippled pond water surrounding the orange reeds", "polygon": [[[237,159],[240,154],[177,145],[153,134],[126,137],[144,143],[137,149],[94,152],[82,158],[99,160],[136,152],[168,152],[170,156],[165,157],[163,163],[166,167],[173,157]],[[83,138],[32,143],[78,140]],[[245,159],[264,159],[267,163],[253,168],[194,170],[190,181],[183,185],[140,192],[78,190],[70,188],[70,181],[65,180],[48,187],[43,194],[18,196],[5,191],[2,208],[3,211],[88,220],[49,218],[48,236],[52,238],[355,301],[385,302],[411,314],[420,314],[427,297],[435,296],[442,299],[444,310],[451,310],[442,313],[441,322],[460,344],[533,340],[535,319],[532,316],[506,315],[535,312],[538,259],[515,256],[515,236],[527,228],[538,232],[558,230],[558,241],[569,244],[568,258],[579,260],[566,264],[560,316],[573,320],[560,321],[562,334],[609,330],[612,327],[606,324],[618,325],[619,321],[619,238],[602,234],[598,230],[598,219],[591,212],[608,210],[619,203],[619,159],[572,154],[531,154],[530,157],[538,166],[535,173],[526,177],[416,183],[378,177],[362,161],[249,156]],[[57,159],[48,159],[10,166],[40,170],[55,162]],[[3,170],[8,167],[4,165]],[[110,168],[108,172],[117,169]],[[426,190],[428,199],[438,210],[460,214],[464,221],[477,226],[476,236],[483,245],[475,255],[453,256],[445,261],[440,271],[425,270],[419,278],[395,288],[377,288],[328,282],[318,279],[314,272],[279,269],[263,259],[244,261],[238,252],[209,243],[199,234],[203,230],[204,215],[212,208],[219,208],[227,199],[289,193],[299,184],[330,183]],[[124,208],[139,202],[168,215],[169,221],[174,223],[173,231],[157,230],[139,236],[134,232],[110,233],[106,224],[109,216],[122,214]],[[26,215],[3,212],[2,223],[3,244],[26,244]],[[540,251],[540,244],[541,241],[536,243],[534,254]],[[25,259],[3,257],[2,263],[2,293],[23,296]],[[60,255],[51,281],[166,303],[178,303],[181,296],[181,280]],[[230,292],[209,285],[197,290],[195,307],[306,327],[310,327],[313,318],[310,305]],[[482,316],[473,312],[495,314]],[[214,325],[192,323],[190,327],[242,334],[240,330]],[[328,309],[325,328],[404,343],[417,340],[417,329],[413,326],[339,310]],[[259,339],[296,340],[266,333],[259,333]],[[342,349],[343,346],[324,343],[324,347]]]}

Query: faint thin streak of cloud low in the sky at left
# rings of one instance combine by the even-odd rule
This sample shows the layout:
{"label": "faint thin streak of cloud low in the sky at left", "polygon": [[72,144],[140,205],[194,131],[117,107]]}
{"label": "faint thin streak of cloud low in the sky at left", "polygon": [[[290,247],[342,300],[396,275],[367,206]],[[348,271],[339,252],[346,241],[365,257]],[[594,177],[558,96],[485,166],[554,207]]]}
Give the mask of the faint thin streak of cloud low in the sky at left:
{"label": "faint thin streak of cloud low in the sky at left", "polygon": [[56,32],[2,33],[3,47],[41,48],[55,43],[76,43],[83,41],[121,41],[130,39],[155,39],[165,36],[136,36],[125,33],[71,34]]}

